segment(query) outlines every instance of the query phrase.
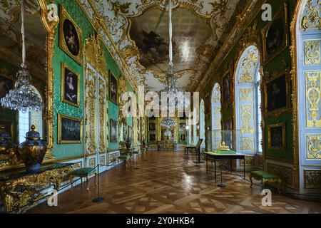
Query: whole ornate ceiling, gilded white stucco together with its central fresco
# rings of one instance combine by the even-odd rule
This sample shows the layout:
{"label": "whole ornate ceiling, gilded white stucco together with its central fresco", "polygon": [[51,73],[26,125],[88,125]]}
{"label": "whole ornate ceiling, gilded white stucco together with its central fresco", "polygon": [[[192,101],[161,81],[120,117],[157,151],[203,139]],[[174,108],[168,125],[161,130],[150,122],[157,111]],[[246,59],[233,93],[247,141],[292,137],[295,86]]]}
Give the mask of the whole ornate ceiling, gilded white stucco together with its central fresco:
{"label": "whole ornate ceiling, gilded white stucco together with its central fresco", "polygon": [[[236,16],[235,14],[238,13],[236,10],[238,9],[238,4],[241,3],[244,6],[248,6],[248,3],[245,4],[248,1],[172,0],[174,9],[173,40],[178,43],[177,60],[175,60],[174,53],[174,61],[180,88],[184,90],[195,89],[225,38],[228,38],[226,30],[230,30],[227,27],[233,17]],[[78,2],[86,12],[88,19],[93,24],[100,25],[101,30],[98,32],[101,33],[103,41],[108,46],[118,65],[121,66],[130,83],[135,85],[143,83],[150,90],[161,90],[162,81],[165,78],[165,63],[168,62],[168,59],[164,60],[168,56],[161,55],[161,61],[163,61],[161,63],[159,59],[155,60],[155,56],[153,56],[154,47],[149,47],[148,51],[150,53],[148,51],[142,53],[139,42],[131,36],[133,35],[131,34],[131,26],[136,26],[139,19],[146,21],[146,24],[153,24],[152,22],[155,21],[148,21],[153,19],[146,15],[148,15],[148,12],[159,14],[160,21],[154,23],[159,31],[155,31],[156,35],[151,31],[146,31],[144,36],[154,36],[153,38],[161,39],[161,42],[166,44],[165,37],[167,35],[163,31],[166,31],[167,28],[163,28],[163,24],[168,24],[168,17],[163,16],[163,14],[167,14],[168,0],[78,0]],[[189,33],[183,33],[183,31],[175,28],[175,22],[180,24],[185,22],[175,19],[175,14],[178,16],[185,15],[186,21],[190,20],[187,21],[191,25],[188,30]],[[162,20],[164,20],[163,24]],[[205,29],[204,25],[206,24],[208,24],[208,28],[206,28],[208,30]],[[203,31],[199,33],[195,29],[201,27],[198,25],[204,26],[204,28],[202,27]],[[185,26],[188,28],[188,25]],[[186,28],[184,29],[186,30]],[[232,26],[228,28],[232,28]],[[144,31],[144,29],[143,25],[138,27],[139,31]],[[175,31],[179,34],[175,33]],[[141,36],[140,34],[138,35]],[[193,40],[193,37],[203,40],[197,41],[195,40],[196,38]],[[184,41],[183,38],[185,38]],[[158,46],[157,48],[160,47]],[[164,48],[164,46],[161,46],[161,48]],[[184,56],[186,59],[180,63],[178,60]],[[146,59],[150,61],[149,66],[144,63]],[[156,64],[150,64],[155,61]]]}

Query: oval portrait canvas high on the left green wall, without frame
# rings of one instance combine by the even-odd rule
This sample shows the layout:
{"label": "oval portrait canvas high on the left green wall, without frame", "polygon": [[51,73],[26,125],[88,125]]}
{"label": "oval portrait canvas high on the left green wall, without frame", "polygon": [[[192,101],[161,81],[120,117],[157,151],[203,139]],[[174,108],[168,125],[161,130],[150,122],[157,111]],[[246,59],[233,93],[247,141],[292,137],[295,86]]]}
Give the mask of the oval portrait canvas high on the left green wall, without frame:
{"label": "oval portrait canvas high on the left green wall, without frame", "polygon": [[63,38],[66,42],[66,46],[68,50],[74,56],[78,56],[78,53],[79,53],[78,33],[76,31],[76,27],[68,19],[63,21]]}

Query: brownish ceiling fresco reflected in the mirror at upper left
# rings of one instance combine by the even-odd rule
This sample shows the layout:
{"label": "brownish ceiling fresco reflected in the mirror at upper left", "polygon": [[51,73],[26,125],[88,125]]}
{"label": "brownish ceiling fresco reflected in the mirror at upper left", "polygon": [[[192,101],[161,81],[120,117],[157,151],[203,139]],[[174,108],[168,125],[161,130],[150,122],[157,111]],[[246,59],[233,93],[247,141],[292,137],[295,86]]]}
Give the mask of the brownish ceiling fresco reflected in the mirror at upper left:
{"label": "brownish ceiling fresco reflected in the mirror at upper left", "polygon": [[[37,0],[26,1],[26,61],[32,74],[46,80],[46,29],[42,26]],[[39,26],[40,25],[40,26]],[[4,60],[21,64],[21,4],[0,1],[0,53]]]}

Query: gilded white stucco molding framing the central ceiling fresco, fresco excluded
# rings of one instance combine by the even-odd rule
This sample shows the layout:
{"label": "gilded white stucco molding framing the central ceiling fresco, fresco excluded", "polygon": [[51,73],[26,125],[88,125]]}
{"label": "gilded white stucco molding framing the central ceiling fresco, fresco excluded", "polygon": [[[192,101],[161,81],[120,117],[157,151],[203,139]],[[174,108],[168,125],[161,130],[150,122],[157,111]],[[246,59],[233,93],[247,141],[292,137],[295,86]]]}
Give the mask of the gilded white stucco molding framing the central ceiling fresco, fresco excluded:
{"label": "gilded white stucco molding framing the central ceiling fresco, fresco excluded", "polygon": [[[128,38],[126,28],[129,26],[129,19],[132,17],[140,16],[146,11],[158,7],[165,9],[167,1],[137,1],[133,4],[133,1],[125,1],[123,4],[118,1],[93,1],[93,0],[78,0],[81,4],[83,11],[86,12],[88,19],[92,24],[101,27],[101,33],[106,46],[114,56],[116,63],[119,66],[126,68],[126,77],[131,78],[131,83],[144,84],[146,86],[146,77],[153,76],[151,72],[145,71],[145,68],[139,63],[139,52],[135,44]],[[229,5],[228,5],[229,4]],[[197,16],[207,18],[210,20],[212,27],[212,36],[210,40],[217,41],[218,33],[223,33],[225,24],[221,23],[226,21],[226,12],[233,10],[230,1],[218,0],[208,3],[207,1],[193,1],[193,0],[175,0],[173,1],[173,7],[182,7],[193,11]],[[230,7],[230,8],[229,8]],[[94,22],[93,22],[94,21]],[[105,35],[105,36],[103,36]],[[199,53],[202,56],[202,53]],[[209,51],[203,52],[203,56],[198,58],[198,68],[187,76],[193,79],[193,83],[190,86],[195,86],[204,69],[208,68],[210,58],[213,58],[215,53]],[[183,75],[183,72],[180,72]],[[159,77],[163,78],[163,76]],[[192,90],[192,88],[190,90]]]}

